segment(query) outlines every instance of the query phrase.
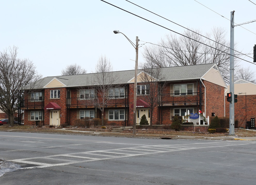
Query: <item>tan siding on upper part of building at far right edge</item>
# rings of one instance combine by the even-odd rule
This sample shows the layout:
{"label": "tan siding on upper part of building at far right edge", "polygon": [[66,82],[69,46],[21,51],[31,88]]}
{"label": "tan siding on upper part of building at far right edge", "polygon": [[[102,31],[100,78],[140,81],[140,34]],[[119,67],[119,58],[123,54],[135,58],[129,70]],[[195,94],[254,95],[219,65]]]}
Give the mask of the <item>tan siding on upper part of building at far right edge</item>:
{"label": "tan siding on upper part of building at far right edge", "polygon": [[[245,95],[245,93],[246,95],[256,95],[256,85],[251,83],[234,84],[234,91],[234,94],[237,94],[237,96]],[[229,86],[225,96],[227,96],[227,93],[229,93]]]}

